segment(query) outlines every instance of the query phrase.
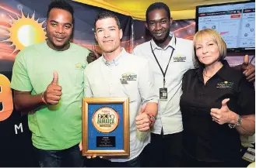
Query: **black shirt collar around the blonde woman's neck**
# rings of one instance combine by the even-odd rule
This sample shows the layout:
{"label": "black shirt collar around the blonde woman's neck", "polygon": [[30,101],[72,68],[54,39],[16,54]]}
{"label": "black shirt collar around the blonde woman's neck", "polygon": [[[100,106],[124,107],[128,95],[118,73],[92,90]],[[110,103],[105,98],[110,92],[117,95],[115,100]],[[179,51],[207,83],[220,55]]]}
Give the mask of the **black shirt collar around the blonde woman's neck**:
{"label": "black shirt collar around the blonde woman's neck", "polygon": [[[230,74],[228,69],[230,68],[230,64],[226,60],[222,60],[221,63],[223,63],[223,67],[221,67],[218,72],[215,75],[218,75],[219,77],[223,78],[223,80],[227,80],[230,78]],[[198,78],[203,81],[203,71],[205,67],[199,66],[198,70],[195,70],[194,75],[198,75]],[[215,76],[214,75],[214,76]]]}

